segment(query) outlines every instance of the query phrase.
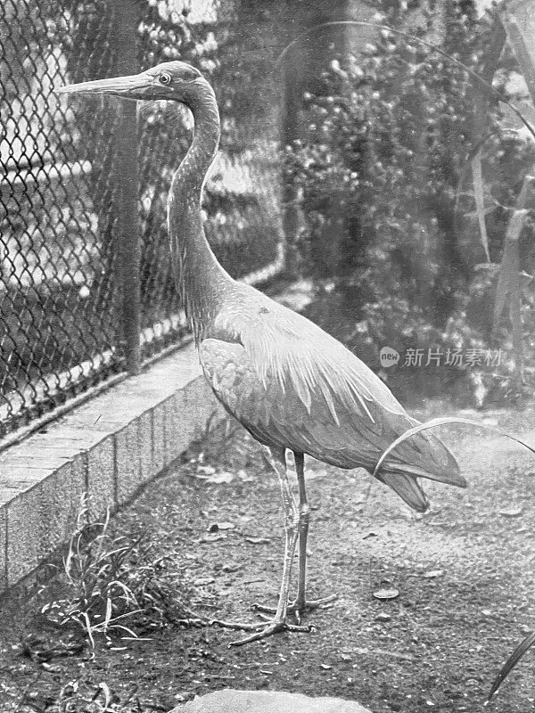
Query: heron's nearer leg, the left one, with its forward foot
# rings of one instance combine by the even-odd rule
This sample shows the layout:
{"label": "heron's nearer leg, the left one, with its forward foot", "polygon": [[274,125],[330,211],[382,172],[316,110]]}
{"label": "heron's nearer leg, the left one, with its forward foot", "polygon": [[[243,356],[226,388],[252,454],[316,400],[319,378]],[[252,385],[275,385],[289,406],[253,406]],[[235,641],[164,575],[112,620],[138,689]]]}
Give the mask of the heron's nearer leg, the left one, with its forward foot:
{"label": "heron's nearer leg, the left one, with its forward foot", "polygon": [[262,625],[259,628],[259,631],[255,634],[247,636],[247,638],[242,639],[241,641],[233,642],[231,644],[233,646],[250,643],[251,641],[258,641],[259,639],[266,638],[266,636],[276,634],[277,631],[282,631],[284,629],[288,629],[289,631],[310,631],[310,627],[299,627],[286,622],[288,593],[290,590],[290,578],[292,577],[293,555],[295,554],[295,546],[297,545],[297,538],[299,537],[300,532],[300,514],[292,496],[290,483],[288,482],[284,448],[275,450],[264,446],[263,449],[264,454],[268,458],[268,462],[271,463],[273,469],[279,477],[281,495],[283,496],[285,531],[283,580],[281,582],[281,590],[273,620]]}

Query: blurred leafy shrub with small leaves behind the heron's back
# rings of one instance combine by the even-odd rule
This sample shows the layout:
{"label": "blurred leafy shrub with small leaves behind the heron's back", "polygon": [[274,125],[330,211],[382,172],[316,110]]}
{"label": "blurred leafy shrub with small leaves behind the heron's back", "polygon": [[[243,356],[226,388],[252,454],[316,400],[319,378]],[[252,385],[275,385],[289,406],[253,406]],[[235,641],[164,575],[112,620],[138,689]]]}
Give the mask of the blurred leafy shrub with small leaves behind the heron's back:
{"label": "blurred leafy shrub with small leaves behind the heron's back", "polygon": [[[489,32],[465,12],[467,5],[449,4],[442,49],[463,48],[453,58],[478,72]],[[429,32],[414,31],[429,39]],[[502,84],[512,66],[506,62],[498,72]],[[302,265],[318,281],[333,281],[351,305],[350,342],[376,365],[387,345],[501,350],[500,364],[479,375],[465,368],[451,374],[468,375],[473,389],[482,384],[484,395],[476,397],[482,403],[510,393],[518,381],[508,327],[492,333],[492,303],[506,227],[535,148],[508,125],[498,102],[490,102],[481,143],[467,70],[387,31],[366,45],[360,61],[332,61],[304,95],[307,128],[302,141],[287,147],[285,178],[304,215]],[[478,150],[490,264],[471,183]],[[533,245],[530,213],[521,235],[529,272]],[[527,334],[532,302],[527,292]],[[430,384],[420,381],[424,390]]]}

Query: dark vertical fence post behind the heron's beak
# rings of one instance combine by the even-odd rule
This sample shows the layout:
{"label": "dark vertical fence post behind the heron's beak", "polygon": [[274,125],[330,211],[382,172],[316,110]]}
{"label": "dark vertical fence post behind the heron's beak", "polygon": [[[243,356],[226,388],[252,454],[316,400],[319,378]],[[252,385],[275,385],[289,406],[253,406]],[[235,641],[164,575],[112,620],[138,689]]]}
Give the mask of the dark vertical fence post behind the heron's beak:
{"label": "dark vertical fence post behind the heron's beak", "polygon": [[[117,67],[116,73],[139,71],[138,36],[139,4],[117,0]],[[136,102],[121,102],[115,141],[115,169],[118,201],[119,273],[122,286],[122,347],[129,373],[141,368],[141,301],[140,264],[141,230],[138,215],[139,168],[137,161]]]}

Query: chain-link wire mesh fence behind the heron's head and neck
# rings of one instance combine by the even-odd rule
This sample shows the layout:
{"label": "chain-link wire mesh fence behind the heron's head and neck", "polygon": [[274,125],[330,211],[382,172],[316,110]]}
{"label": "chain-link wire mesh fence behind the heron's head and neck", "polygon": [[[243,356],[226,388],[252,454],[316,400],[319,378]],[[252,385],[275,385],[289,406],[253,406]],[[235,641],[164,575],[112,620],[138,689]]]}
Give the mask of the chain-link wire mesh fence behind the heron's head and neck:
{"label": "chain-link wire mesh fence behind the heron's head and neck", "polygon": [[[185,335],[165,205],[187,149],[186,114],[161,103],[139,105],[137,130],[125,136],[132,117],[128,124],[120,102],[67,102],[53,88],[188,60],[192,47],[210,74],[216,37],[228,27],[210,3],[205,10],[186,22],[178,0],[0,5],[0,438],[123,372],[128,320],[140,325],[144,359]],[[207,233],[229,271],[256,274],[254,281],[282,264],[276,146],[266,134],[251,140],[239,117],[230,124],[247,141],[219,155],[208,184]],[[125,139],[139,166],[134,316],[125,315],[125,304],[132,305],[121,299],[129,259],[124,241],[132,240],[125,236],[128,206],[121,209],[119,201]]]}

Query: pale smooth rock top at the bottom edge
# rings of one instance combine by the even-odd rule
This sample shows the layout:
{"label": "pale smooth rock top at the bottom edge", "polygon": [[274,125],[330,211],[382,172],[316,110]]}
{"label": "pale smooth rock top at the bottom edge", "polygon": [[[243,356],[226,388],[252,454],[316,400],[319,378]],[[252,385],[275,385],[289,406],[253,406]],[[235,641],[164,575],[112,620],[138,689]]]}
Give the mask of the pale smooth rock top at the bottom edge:
{"label": "pale smooth rock top at the bottom edge", "polygon": [[355,701],[309,698],[282,691],[222,691],[208,693],[177,706],[170,713],[371,713]]}

